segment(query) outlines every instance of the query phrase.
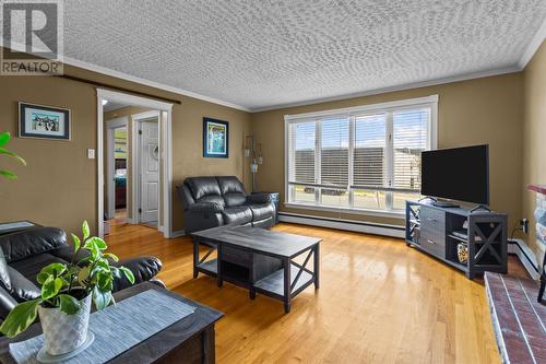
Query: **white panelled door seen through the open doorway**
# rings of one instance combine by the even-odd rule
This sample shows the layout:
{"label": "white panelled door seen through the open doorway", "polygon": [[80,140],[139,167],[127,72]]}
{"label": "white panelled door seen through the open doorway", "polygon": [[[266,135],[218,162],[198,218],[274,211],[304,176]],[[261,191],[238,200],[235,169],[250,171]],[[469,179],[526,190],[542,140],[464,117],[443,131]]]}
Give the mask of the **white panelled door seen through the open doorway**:
{"label": "white panelled door seen through the open doorway", "polygon": [[141,215],[140,222],[158,221],[159,207],[159,148],[158,125],[142,121],[140,129]]}

